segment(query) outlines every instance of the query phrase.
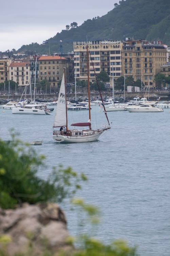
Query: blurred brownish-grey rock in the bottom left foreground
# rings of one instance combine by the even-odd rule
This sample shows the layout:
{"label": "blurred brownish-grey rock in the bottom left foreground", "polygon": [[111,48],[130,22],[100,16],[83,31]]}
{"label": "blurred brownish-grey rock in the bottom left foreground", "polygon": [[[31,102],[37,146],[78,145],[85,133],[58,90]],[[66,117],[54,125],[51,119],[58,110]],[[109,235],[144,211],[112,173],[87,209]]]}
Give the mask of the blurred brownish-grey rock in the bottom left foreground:
{"label": "blurred brownish-grey rock in the bottom left foreground", "polygon": [[[64,212],[54,203],[24,203],[14,210],[0,209],[0,234],[11,237],[11,242],[5,245],[10,256],[28,253],[30,248],[31,255],[37,256],[47,249],[50,253],[73,250],[66,241],[69,233]],[[0,248],[3,248],[1,243]]]}

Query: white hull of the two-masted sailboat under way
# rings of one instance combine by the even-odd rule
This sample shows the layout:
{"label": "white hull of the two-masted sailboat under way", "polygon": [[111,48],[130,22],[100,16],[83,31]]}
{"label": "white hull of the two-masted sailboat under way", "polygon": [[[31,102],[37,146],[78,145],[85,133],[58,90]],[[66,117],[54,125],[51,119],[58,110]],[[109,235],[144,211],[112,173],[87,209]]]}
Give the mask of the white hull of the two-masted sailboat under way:
{"label": "white hull of the two-masted sailboat under way", "polygon": [[91,131],[91,133],[85,133],[83,132],[83,135],[78,135],[78,136],[67,136],[67,135],[60,135],[60,134],[54,134],[53,135],[53,140],[55,142],[59,143],[80,143],[80,142],[92,142],[92,141],[97,141],[100,135],[104,132],[105,130],[100,130],[100,131]]}

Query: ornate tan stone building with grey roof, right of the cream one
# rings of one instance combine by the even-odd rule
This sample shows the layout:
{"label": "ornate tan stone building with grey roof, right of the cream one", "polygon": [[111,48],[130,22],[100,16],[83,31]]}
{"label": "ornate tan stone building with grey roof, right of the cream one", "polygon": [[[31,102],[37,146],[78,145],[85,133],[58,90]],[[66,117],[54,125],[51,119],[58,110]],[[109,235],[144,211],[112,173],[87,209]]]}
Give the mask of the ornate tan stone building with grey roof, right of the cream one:
{"label": "ornate tan stone building with grey roof, right of the cream one", "polygon": [[155,87],[154,76],[167,63],[167,49],[162,42],[148,43],[127,38],[122,47],[122,73]]}

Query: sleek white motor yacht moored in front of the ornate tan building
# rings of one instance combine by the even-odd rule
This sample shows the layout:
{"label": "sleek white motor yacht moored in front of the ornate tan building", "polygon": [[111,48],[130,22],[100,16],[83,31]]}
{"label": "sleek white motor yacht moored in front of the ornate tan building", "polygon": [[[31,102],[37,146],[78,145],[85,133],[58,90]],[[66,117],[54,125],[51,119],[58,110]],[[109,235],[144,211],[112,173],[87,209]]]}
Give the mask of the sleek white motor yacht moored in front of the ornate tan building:
{"label": "sleek white motor yacht moored in front of the ornate tan building", "polygon": [[164,112],[162,108],[157,108],[154,104],[148,103],[127,106],[125,109],[129,112]]}

